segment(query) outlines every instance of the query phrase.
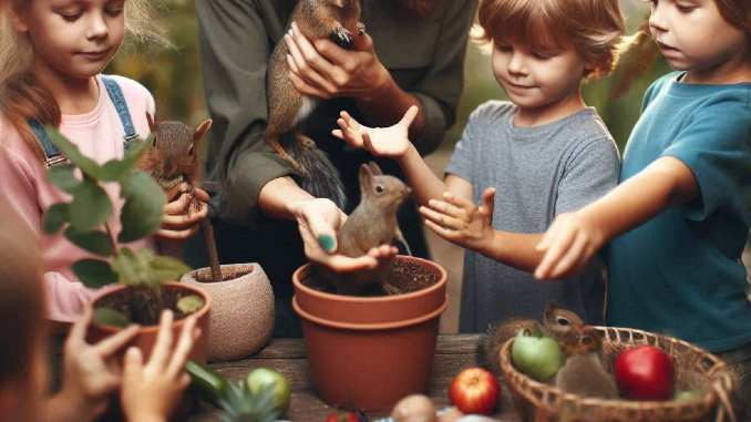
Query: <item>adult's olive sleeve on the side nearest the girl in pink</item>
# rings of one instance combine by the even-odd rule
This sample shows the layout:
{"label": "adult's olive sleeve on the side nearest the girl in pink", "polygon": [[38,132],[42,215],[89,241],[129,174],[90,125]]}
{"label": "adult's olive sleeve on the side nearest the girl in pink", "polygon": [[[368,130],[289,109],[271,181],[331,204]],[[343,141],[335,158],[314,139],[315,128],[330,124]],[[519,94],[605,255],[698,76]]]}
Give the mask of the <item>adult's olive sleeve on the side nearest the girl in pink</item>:
{"label": "adult's olive sleeve on the side nearest the girl in pink", "polygon": [[258,194],[269,181],[294,174],[264,142],[269,29],[278,27],[269,2],[199,0],[200,62],[214,120],[207,178],[220,184],[212,208],[227,222],[254,225]]}

